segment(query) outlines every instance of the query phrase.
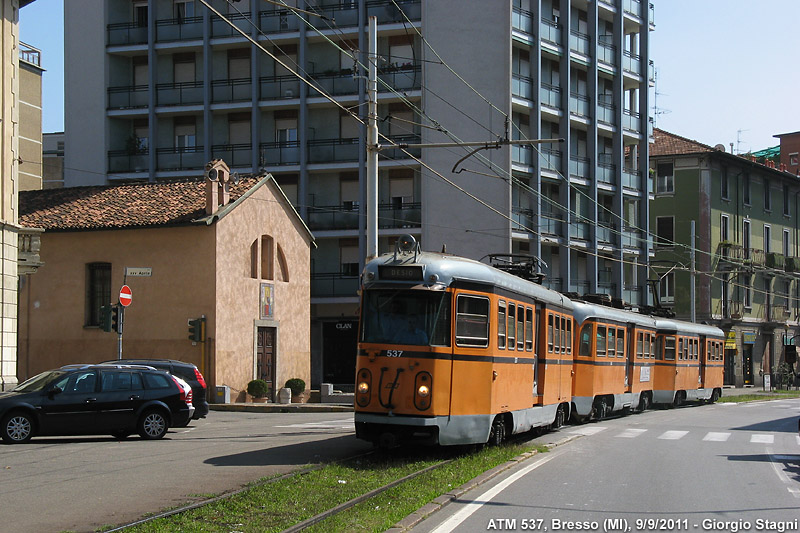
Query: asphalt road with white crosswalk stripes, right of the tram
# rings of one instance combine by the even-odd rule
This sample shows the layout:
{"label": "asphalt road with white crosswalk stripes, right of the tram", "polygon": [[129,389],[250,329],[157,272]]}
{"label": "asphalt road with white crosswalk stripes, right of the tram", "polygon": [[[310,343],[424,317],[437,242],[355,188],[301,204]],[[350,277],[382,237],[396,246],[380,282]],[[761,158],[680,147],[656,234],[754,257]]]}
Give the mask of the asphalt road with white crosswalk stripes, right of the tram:
{"label": "asphalt road with white crosswalk stripes, right of the tram", "polygon": [[446,506],[417,533],[799,531],[800,400],[649,411],[577,436]]}

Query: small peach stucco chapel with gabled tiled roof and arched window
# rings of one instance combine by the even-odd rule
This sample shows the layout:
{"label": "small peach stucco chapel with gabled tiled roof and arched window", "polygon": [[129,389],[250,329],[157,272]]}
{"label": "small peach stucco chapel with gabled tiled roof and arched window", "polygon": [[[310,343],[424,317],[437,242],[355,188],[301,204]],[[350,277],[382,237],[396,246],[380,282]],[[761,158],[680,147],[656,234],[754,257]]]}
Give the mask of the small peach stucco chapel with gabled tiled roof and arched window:
{"label": "small peach stucco chapel with gabled tiled roof and arched window", "polygon": [[[103,330],[99,307],[127,284],[123,357],[192,362],[231,401],[245,401],[254,378],[273,391],[289,378],[309,382],[313,237],[271,176],[227,185],[23,193],[23,220],[45,229],[45,266],[20,293],[20,379],[116,359],[119,336]],[[204,334],[193,342],[188,321],[199,318]]]}

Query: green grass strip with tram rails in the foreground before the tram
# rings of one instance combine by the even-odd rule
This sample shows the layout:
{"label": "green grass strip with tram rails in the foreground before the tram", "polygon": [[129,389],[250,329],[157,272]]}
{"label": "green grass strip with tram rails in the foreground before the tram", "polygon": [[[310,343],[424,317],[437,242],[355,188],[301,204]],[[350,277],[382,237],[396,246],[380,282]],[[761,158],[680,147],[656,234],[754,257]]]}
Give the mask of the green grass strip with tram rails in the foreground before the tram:
{"label": "green grass strip with tram rails in the foreground before the tram", "polygon": [[[280,532],[344,502],[424,468],[446,465],[405,481],[304,531],[385,531],[442,494],[518,455],[532,445],[478,452],[413,448],[377,453],[251,488],[209,505],[126,528],[127,532]],[[268,480],[265,480],[268,481]]]}

